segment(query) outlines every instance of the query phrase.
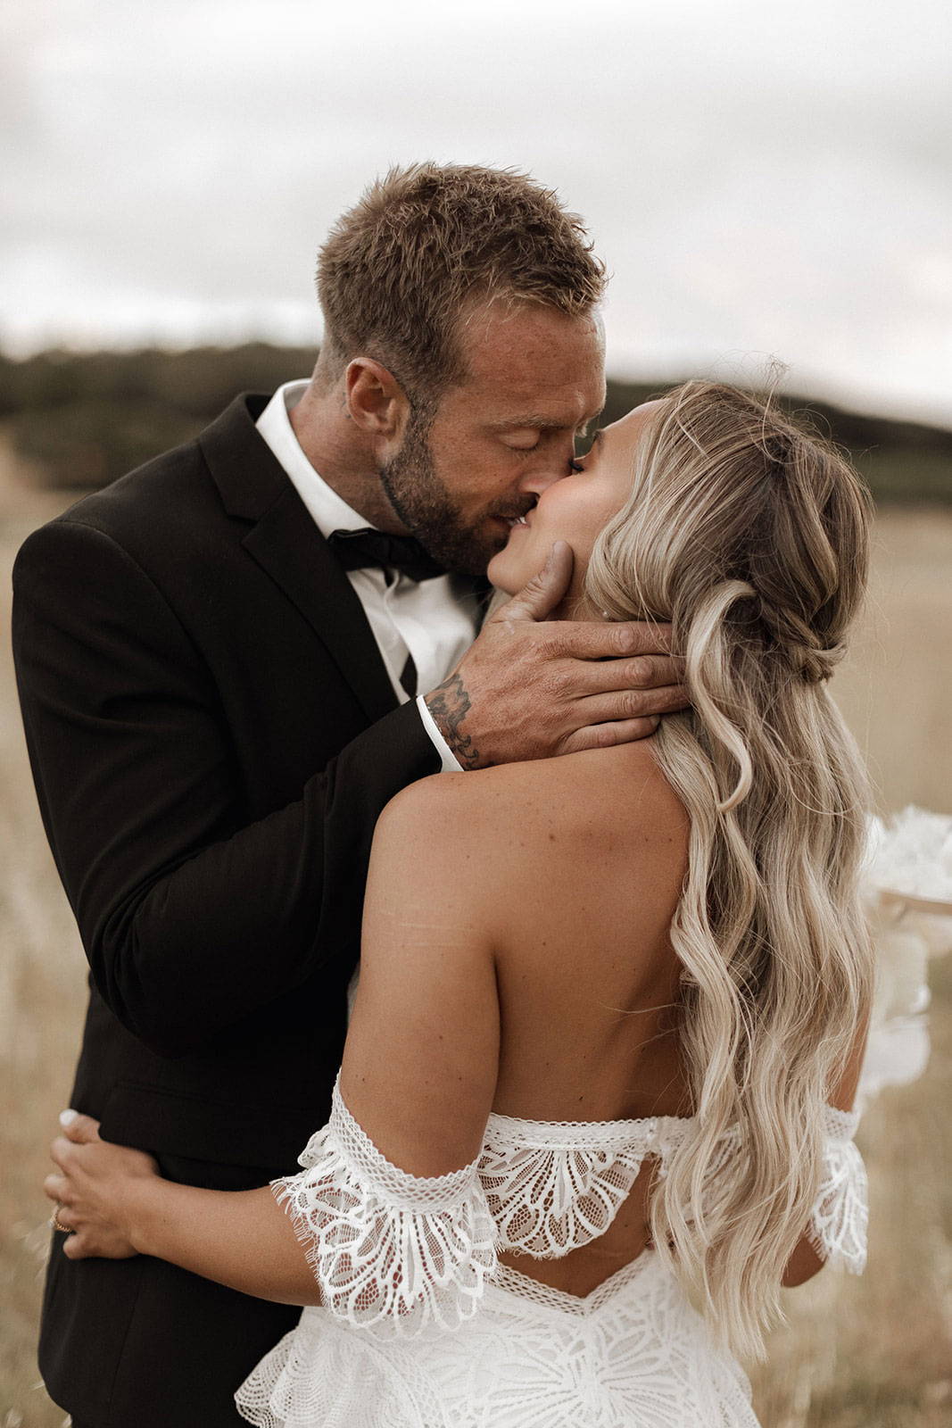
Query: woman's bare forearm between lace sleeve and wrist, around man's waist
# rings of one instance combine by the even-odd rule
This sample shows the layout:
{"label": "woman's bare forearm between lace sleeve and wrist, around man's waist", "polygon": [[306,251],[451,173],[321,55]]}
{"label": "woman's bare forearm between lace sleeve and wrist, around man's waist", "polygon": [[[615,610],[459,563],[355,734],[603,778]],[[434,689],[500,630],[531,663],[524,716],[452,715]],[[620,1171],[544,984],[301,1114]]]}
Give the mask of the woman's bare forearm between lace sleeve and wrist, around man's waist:
{"label": "woman's bare forearm between lace sleeve and wrist, around man's waist", "polygon": [[123,1218],[140,1254],[258,1299],[321,1302],[304,1248],[267,1185],[220,1191],[136,1180]]}

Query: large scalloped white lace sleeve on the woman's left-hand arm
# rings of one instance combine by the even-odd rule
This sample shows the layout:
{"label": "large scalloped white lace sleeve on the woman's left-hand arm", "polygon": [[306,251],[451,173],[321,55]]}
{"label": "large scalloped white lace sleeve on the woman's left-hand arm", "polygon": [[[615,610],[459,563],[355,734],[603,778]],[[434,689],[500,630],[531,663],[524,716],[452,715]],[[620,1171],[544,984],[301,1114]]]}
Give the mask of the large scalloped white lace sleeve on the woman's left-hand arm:
{"label": "large scalloped white lace sleeve on the woman's left-hand arm", "polygon": [[271,1188],[294,1222],[321,1302],[355,1327],[410,1335],[470,1318],[495,1268],[478,1161],[422,1178],[381,1155],[334,1085],[331,1118]]}

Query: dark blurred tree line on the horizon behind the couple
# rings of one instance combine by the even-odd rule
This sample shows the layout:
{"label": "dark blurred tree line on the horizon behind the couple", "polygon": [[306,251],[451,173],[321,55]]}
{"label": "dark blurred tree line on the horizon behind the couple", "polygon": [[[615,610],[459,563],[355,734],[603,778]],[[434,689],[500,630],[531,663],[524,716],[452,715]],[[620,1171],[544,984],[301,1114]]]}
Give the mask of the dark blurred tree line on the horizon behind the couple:
{"label": "dark blurred tree line on the horizon behind the couple", "polygon": [[[194,347],[186,351],[0,354],[0,421],[14,450],[51,487],[93,488],[196,436],[238,391],[273,391],[308,376],[310,347]],[[662,383],[608,383],[614,421]],[[849,448],[879,501],[952,504],[952,431],[784,398]]]}

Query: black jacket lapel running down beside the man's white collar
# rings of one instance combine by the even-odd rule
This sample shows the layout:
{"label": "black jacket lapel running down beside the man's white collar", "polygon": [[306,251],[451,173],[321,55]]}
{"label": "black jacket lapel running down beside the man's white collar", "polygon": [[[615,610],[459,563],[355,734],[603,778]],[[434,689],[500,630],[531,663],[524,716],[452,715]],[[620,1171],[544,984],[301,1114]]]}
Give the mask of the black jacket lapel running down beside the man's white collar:
{"label": "black jacket lapel running down beside the man's white collar", "polygon": [[397,707],[354,587],[254,423],[267,397],[237,397],[198,443],[244,548],[300,610],[371,723]]}

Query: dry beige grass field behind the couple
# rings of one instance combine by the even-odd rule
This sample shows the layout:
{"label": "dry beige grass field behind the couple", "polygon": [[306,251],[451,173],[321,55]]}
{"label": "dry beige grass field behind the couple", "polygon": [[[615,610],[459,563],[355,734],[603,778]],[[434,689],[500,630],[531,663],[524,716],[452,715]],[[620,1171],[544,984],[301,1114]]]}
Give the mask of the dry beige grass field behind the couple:
{"label": "dry beige grass field behind the couple", "polygon": [[[16,548],[64,503],[31,490],[0,451],[4,628]],[[952,514],[885,514],[871,610],[836,680],[883,808],[913,801],[952,811],[951,627]],[[84,961],[34,805],[7,640],[1,661],[0,1428],[59,1428],[64,1414],[46,1397],[34,1358],[47,1245],[39,1187],[69,1094]],[[789,1325],[755,1374],[765,1428],[952,1425],[952,958],[933,964],[932,984],[929,1070],[883,1092],[861,1130],[869,1269],[862,1279],[828,1272],[789,1294]]]}

